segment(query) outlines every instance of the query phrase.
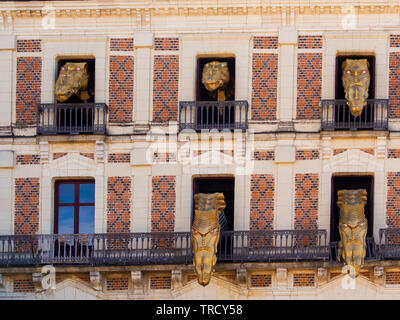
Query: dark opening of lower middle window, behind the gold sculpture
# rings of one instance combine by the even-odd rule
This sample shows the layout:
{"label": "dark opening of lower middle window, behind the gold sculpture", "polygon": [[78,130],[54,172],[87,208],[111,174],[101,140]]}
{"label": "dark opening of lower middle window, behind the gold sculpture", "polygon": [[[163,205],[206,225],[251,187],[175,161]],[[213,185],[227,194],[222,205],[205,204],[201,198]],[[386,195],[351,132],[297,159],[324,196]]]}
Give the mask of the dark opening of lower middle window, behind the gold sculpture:
{"label": "dark opening of lower middle window, behind the gold sculpture", "polygon": [[[193,197],[196,193],[215,193],[222,192],[225,196],[226,208],[223,212],[225,219],[220,216],[220,224],[224,225],[221,229],[221,236],[218,244],[218,255],[219,257],[230,257],[232,256],[233,248],[233,231],[234,227],[234,200],[235,200],[235,179],[227,177],[216,177],[216,178],[195,178],[193,180]],[[192,211],[192,223],[194,219],[194,198],[193,199],[193,211]]]}

